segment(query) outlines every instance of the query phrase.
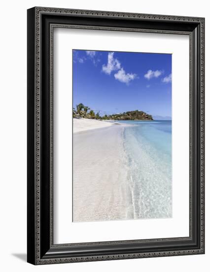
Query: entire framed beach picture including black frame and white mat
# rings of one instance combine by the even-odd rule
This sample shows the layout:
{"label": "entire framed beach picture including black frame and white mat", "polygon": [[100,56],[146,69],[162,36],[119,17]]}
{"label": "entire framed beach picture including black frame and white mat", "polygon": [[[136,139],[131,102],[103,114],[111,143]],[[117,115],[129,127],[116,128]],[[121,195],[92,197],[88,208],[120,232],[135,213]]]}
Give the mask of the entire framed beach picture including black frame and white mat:
{"label": "entire framed beach picture including black frame and white mat", "polygon": [[204,18],[28,10],[28,262],[205,253]]}

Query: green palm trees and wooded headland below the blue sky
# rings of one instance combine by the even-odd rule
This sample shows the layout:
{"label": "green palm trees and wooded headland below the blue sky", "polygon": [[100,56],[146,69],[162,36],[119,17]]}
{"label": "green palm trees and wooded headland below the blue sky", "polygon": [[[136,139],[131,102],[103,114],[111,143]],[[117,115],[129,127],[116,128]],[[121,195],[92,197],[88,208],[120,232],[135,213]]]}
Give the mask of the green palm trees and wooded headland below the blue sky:
{"label": "green palm trees and wooded headland below the blue sky", "polygon": [[111,115],[100,116],[100,111],[95,113],[88,106],[82,103],[73,108],[73,118],[87,118],[97,120],[153,120],[150,114],[140,110],[127,111],[123,113],[116,113]]}

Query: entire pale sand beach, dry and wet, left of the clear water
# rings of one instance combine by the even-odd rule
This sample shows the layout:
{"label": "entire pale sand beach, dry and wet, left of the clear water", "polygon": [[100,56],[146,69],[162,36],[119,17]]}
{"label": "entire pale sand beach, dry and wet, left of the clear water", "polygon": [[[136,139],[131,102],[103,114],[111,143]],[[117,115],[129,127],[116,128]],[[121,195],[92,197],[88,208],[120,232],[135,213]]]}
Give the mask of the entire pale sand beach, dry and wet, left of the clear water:
{"label": "entire pale sand beach, dry and wet, left of the clear water", "polygon": [[88,119],[74,125],[83,132],[73,134],[73,222],[133,218],[123,126]]}

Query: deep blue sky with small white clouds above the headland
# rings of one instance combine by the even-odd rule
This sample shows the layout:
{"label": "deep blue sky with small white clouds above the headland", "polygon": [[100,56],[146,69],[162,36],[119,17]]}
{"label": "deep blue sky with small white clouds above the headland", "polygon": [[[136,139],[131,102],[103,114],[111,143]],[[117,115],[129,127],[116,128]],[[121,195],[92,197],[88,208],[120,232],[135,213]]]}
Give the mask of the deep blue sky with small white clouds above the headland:
{"label": "deep blue sky with small white clouds above the headland", "polygon": [[142,110],[172,116],[172,55],[73,50],[73,106],[100,115]]}

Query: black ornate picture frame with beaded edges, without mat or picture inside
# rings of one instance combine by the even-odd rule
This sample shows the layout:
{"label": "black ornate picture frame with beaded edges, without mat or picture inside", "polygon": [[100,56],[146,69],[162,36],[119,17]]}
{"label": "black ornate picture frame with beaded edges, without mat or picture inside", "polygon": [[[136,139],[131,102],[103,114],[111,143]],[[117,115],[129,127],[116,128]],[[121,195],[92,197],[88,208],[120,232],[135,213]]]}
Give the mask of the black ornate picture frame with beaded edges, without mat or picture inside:
{"label": "black ornate picture frame with beaded edges, without mat or picture inside", "polygon": [[[53,28],[185,34],[190,39],[189,237],[53,243]],[[28,9],[28,262],[34,265],[205,253],[205,19],[33,7]],[[181,99],[181,97],[180,97]],[[181,155],[181,154],[180,154]],[[128,230],[129,231],[129,230]]]}

